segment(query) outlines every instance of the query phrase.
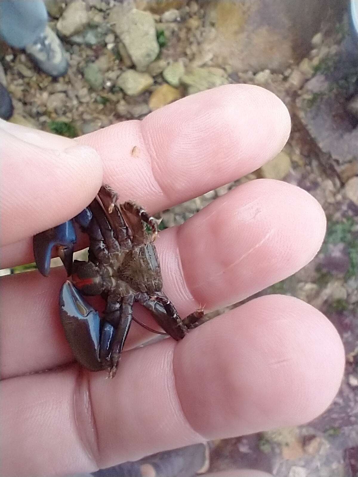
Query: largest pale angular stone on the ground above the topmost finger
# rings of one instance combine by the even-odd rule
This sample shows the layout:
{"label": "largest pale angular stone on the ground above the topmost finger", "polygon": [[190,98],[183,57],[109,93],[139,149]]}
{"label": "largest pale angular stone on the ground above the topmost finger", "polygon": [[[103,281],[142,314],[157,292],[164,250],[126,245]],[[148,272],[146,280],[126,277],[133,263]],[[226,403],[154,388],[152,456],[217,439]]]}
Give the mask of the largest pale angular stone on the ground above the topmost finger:
{"label": "largest pale angular stone on the ground above the topmost finger", "polygon": [[126,11],[118,5],[111,11],[109,21],[125,44],[137,71],[146,71],[159,54],[157,32],[151,13],[136,9]]}

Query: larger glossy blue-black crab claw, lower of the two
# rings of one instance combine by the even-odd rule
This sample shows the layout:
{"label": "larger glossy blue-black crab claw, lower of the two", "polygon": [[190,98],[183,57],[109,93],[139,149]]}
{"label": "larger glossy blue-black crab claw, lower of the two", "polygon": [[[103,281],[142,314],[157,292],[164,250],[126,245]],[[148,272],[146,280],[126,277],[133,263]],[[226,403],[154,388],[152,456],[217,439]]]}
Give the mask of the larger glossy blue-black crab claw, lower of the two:
{"label": "larger glossy blue-black crab claw, lower of the two", "polygon": [[100,371],[100,317],[70,281],[60,291],[60,316],[75,359],[90,371]]}

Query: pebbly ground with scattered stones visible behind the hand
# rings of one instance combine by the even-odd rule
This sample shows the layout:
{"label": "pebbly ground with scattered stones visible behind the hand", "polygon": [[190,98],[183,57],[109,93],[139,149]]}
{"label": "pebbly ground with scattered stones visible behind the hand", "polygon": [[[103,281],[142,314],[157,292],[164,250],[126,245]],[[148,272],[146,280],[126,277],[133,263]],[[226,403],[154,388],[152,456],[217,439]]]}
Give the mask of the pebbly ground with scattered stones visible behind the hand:
{"label": "pebbly ground with scattered stones visible behind the hand", "polygon": [[[322,26],[299,59],[290,58],[288,41],[279,41],[285,64],[273,67],[269,60],[262,67],[261,47],[256,56],[261,69],[240,51],[223,58],[223,41],[231,44],[232,35],[232,42],[237,42],[238,24],[243,25],[243,39],[245,25],[252,21],[239,3],[48,0],[50,24],[68,52],[69,73],[55,82],[36,73],[23,53],[2,46],[5,77],[0,81],[7,82],[13,98],[11,121],[70,137],[142,118],[185,95],[226,83],[258,84],[284,101],[293,119],[284,150],[253,174],[164,211],[163,223],[180,224],[216,197],[257,177],[296,184],[320,202],[328,219],[320,253],[303,270],[260,294],[296,296],[335,324],[347,353],[341,391],[330,409],[308,426],[211,443],[211,470],[251,467],[279,477],[354,477],[358,475],[357,58],[350,54],[345,20]],[[268,32],[270,38],[274,34]]]}

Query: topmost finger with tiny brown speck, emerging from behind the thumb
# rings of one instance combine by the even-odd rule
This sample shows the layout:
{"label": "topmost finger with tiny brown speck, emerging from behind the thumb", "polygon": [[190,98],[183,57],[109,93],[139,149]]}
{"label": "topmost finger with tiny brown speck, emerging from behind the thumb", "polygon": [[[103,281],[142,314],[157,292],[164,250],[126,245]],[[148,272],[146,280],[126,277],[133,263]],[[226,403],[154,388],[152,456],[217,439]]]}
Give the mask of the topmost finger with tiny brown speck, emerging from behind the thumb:
{"label": "topmost finger with tiny brown speck, emerging from behind the thumb", "polygon": [[151,213],[256,170],[290,133],[282,101],[259,86],[230,84],[79,138],[104,161],[104,182]]}

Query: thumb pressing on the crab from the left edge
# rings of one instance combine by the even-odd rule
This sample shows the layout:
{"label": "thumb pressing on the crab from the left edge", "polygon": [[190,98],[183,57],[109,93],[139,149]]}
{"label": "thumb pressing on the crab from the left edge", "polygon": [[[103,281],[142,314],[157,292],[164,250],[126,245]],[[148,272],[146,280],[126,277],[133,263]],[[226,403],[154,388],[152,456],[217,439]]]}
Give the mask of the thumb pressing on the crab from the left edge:
{"label": "thumb pressing on the crab from the left edge", "polygon": [[1,245],[78,214],[102,184],[102,161],[89,146],[0,121]]}

